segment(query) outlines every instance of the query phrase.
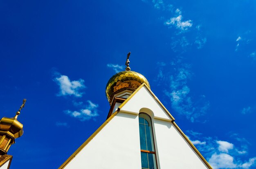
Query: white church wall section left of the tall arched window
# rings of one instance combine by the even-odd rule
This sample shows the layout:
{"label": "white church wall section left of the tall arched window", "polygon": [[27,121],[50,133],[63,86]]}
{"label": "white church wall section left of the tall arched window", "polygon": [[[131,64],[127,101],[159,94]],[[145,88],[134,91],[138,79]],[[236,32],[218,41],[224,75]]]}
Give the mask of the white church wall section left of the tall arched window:
{"label": "white church wall section left of the tall arched window", "polygon": [[119,112],[65,169],[141,168],[138,121],[136,114]]}

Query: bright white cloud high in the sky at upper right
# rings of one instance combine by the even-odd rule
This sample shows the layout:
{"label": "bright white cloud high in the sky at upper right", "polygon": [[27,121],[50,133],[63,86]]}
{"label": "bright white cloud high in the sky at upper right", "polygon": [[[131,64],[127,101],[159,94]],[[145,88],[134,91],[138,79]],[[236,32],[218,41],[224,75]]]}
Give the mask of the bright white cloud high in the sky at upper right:
{"label": "bright white cloud high in the sky at upper right", "polygon": [[174,26],[176,26],[177,29],[180,29],[182,31],[188,30],[188,28],[193,25],[192,20],[182,21],[182,15],[181,15],[180,9],[176,9],[175,12],[178,14],[178,16],[173,17],[170,20],[167,20],[165,22],[165,24],[166,25],[174,25]]}

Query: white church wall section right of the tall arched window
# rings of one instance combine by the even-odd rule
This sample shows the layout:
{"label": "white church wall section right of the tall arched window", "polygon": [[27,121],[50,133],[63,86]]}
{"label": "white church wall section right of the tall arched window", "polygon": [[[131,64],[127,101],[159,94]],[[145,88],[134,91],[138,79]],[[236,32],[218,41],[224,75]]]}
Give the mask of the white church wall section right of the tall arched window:
{"label": "white church wall section right of the tall arched window", "polygon": [[172,123],[154,119],[154,129],[161,169],[208,169]]}

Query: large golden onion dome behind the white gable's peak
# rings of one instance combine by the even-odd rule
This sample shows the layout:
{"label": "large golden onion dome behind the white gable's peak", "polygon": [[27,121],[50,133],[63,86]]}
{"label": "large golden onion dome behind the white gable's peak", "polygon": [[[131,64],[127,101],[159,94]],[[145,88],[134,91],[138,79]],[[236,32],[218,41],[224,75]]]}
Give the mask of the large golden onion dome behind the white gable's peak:
{"label": "large golden onion dome behind the white gable's peak", "polygon": [[110,101],[117,91],[126,89],[136,90],[142,83],[146,83],[150,88],[148,80],[140,73],[130,70],[118,72],[107,83],[106,97]]}

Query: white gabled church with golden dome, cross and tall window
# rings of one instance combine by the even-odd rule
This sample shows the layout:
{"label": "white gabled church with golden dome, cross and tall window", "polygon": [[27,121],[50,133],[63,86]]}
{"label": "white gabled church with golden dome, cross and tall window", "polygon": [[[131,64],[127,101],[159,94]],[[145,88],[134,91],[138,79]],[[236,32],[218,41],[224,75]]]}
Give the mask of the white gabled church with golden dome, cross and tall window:
{"label": "white gabled church with golden dome, cross and tall window", "polygon": [[59,169],[212,169],[129,56],[107,83],[106,121]]}

